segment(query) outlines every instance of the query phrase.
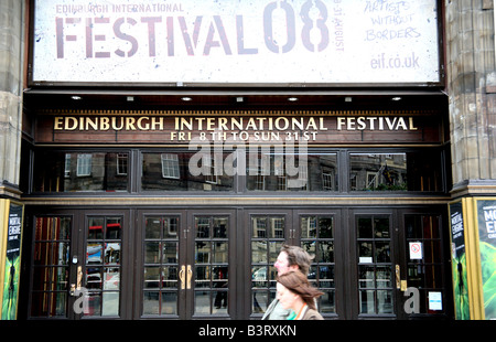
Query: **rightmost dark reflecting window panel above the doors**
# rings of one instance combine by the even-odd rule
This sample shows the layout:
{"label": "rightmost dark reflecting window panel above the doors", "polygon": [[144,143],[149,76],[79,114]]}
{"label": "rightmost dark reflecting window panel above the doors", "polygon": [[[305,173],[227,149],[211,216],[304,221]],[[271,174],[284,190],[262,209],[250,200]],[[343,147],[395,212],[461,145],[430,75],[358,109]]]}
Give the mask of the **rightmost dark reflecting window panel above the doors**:
{"label": "rightmost dark reflecting window panel above the doors", "polygon": [[436,151],[351,153],[351,191],[442,191]]}

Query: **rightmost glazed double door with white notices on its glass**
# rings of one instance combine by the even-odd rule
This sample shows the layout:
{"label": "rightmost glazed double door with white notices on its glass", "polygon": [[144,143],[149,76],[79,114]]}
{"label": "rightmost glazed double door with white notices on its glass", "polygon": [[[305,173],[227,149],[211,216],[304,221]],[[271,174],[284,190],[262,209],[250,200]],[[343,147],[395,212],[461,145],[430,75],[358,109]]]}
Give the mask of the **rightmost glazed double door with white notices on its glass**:
{"label": "rightmost glazed double door with white notices on its glass", "polygon": [[443,248],[443,214],[397,209],[351,217],[352,318],[448,316],[450,256]]}

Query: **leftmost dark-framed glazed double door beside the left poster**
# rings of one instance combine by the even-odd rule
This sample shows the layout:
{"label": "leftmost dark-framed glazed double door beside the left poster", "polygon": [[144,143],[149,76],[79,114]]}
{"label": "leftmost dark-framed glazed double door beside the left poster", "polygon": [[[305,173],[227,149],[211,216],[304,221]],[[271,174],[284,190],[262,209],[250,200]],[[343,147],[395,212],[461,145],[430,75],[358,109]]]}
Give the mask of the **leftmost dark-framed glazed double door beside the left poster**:
{"label": "leftmost dark-framed glazed double door beside the left poster", "polygon": [[33,217],[30,318],[127,318],[128,213]]}

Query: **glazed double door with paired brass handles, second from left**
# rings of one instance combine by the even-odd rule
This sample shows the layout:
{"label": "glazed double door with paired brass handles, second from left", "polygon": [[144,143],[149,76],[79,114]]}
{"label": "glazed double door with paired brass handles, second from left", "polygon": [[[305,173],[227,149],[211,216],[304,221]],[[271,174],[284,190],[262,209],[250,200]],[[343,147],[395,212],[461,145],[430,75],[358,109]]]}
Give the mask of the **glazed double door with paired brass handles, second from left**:
{"label": "glazed double door with paired brass handles, second from left", "polygon": [[236,317],[231,211],[140,212],[140,318]]}

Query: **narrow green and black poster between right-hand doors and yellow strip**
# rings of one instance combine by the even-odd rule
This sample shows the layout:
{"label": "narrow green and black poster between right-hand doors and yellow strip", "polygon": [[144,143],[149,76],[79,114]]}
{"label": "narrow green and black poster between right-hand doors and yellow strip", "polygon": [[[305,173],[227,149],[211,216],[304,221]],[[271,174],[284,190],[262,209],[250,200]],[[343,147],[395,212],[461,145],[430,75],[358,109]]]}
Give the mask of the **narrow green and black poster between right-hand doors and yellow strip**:
{"label": "narrow green and black poster between right-hand doors and yellow strip", "polygon": [[468,281],[466,274],[465,232],[462,202],[450,204],[451,253],[455,318],[470,320]]}

